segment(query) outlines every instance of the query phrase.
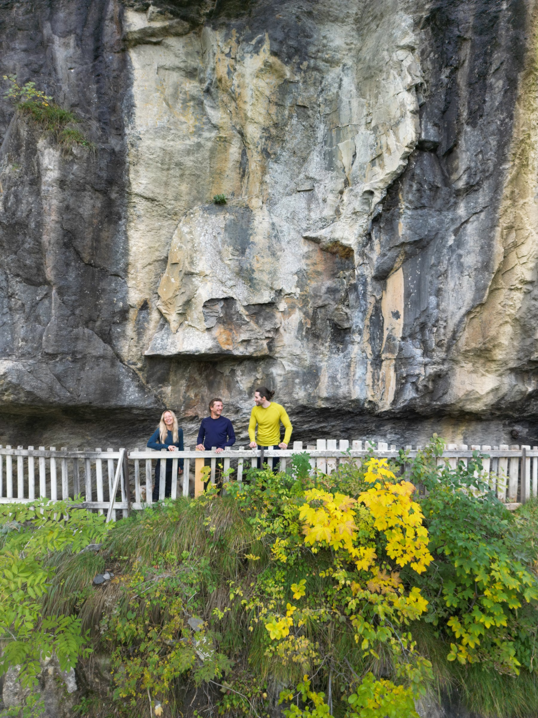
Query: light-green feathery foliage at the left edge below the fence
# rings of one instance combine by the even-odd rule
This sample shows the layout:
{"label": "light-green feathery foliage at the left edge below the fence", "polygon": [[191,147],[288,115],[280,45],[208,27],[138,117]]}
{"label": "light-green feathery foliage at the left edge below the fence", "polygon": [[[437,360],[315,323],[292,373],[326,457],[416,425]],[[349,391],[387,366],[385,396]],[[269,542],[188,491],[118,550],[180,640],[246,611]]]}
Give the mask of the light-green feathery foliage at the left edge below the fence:
{"label": "light-green feathery foliage at the left edge below the fence", "polygon": [[55,552],[77,552],[100,541],[103,516],[70,502],[0,505],[0,674],[20,666],[23,686],[36,686],[39,658],[55,653],[63,671],[84,654],[86,638],[76,615],[44,616],[42,601],[55,573]]}

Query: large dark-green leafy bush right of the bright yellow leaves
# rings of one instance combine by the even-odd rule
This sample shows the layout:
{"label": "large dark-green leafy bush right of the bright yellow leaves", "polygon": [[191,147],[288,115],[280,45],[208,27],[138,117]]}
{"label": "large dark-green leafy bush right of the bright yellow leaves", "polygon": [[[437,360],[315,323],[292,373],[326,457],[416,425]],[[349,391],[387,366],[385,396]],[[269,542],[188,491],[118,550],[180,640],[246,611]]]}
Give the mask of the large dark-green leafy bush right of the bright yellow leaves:
{"label": "large dark-green leafy bush right of the bright yellow leaves", "polygon": [[423,582],[425,620],[449,636],[448,661],[519,673],[535,666],[538,582],[514,516],[489,490],[478,452],[466,466],[437,471],[433,442],[412,463],[435,570]]}

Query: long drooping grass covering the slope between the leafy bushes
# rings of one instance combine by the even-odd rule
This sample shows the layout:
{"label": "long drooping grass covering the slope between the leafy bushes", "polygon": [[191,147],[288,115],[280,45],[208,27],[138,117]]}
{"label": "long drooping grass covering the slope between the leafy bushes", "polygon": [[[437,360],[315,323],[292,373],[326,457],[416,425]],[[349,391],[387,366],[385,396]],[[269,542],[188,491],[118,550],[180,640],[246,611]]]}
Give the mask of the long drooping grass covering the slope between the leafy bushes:
{"label": "long drooping grass covering the slope between the leafy bushes", "polygon": [[[537,500],[519,510],[518,523],[529,544],[534,545],[538,535]],[[249,633],[244,608],[239,602],[230,601],[230,582],[241,585],[244,597],[248,598],[249,587],[263,574],[270,555],[267,547],[253,538],[247,516],[228,497],[214,498],[211,502],[179,499],[166,510],[133,513],[128,520],[118,522],[98,554],[55,556],[52,560],[58,570],[45,608],[52,613],[78,612],[85,629],[90,630],[95,650],[110,651],[110,644],[102,643],[99,627],[103,615],[128,610],[128,592],[118,578],[133,574],[141,564],[154,566],[155,577],[162,576],[177,568],[181,562],[178,557],[187,555],[184,552],[188,554],[185,564],[199,568],[192,613],[214,623],[214,609],[224,612],[218,621],[219,650],[236,661],[235,673],[247,671],[262,678],[270,674],[283,681],[295,681],[298,675],[283,671],[282,663],[265,656],[263,627]],[[249,561],[245,554],[257,554],[260,560]],[[92,579],[104,569],[112,569],[116,579],[96,589],[91,585]],[[308,592],[316,592],[318,580],[318,577],[308,579]],[[163,617],[165,614],[166,607]],[[538,681],[534,674],[522,671],[514,678],[483,670],[481,666],[448,663],[445,659],[448,644],[435,636],[430,625],[416,623],[412,632],[420,650],[433,663],[434,692],[457,689],[466,707],[486,718],[538,715]],[[372,668],[363,665],[360,652],[345,635],[328,637],[322,633],[321,630],[316,638],[322,642],[331,638],[334,651],[346,656],[357,672]],[[298,668],[296,673],[300,672]],[[100,703],[98,714],[108,715],[108,709],[102,712],[103,705]],[[343,715],[341,708],[336,706],[334,714]]]}

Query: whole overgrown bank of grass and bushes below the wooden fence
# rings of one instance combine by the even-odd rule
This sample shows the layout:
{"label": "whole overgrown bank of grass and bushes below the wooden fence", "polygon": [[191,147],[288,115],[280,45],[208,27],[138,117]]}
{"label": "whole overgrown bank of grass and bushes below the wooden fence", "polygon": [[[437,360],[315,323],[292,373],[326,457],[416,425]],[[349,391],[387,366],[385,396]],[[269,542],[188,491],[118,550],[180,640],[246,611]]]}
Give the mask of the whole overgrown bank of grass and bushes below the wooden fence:
{"label": "whole overgrown bank of grass and bushes below the wooden fence", "polygon": [[[452,469],[441,451],[434,439],[416,460],[350,458],[329,476],[299,454],[286,473],[250,469],[223,495],[133,513],[98,554],[76,553],[104,535],[98,516],[68,510],[82,543],[49,526],[46,551],[27,553],[39,526],[6,508],[2,560],[36,564],[20,587],[26,564],[3,574],[37,615],[19,643],[44,631],[47,650],[110,655],[108,708],[84,707],[95,718],[148,703],[168,718],[189,686],[201,715],[263,718],[278,684],[288,717],[414,718],[427,686],[457,687],[488,718],[536,714],[538,502],[508,512],[478,454]],[[32,521],[64,526],[45,508]],[[105,566],[115,577],[93,587]]]}

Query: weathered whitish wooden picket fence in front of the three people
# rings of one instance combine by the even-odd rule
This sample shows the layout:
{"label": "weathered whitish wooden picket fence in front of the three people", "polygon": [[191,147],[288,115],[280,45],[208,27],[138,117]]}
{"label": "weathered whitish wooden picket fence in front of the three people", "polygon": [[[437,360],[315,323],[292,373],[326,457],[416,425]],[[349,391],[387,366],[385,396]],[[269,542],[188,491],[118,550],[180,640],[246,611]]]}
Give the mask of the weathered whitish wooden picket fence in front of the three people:
{"label": "weathered whitish wooden picket fence in front of the three people", "polygon": [[[422,447],[405,449],[410,457],[415,457]],[[310,455],[311,466],[330,474],[339,463],[349,460],[363,460],[369,451],[379,457],[397,458],[398,449],[384,442],[349,442],[341,439],[318,439],[316,444],[293,442],[293,449],[280,451],[238,447],[215,451],[198,452],[186,447],[182,452],[154,452],[149,449],[72,449],[62,447],[22,446],[2,447],[0,445],[0,503],[29,503],[37,498],[62,500],[80,496],[82,508],[95,509],[107,513],[107,521],[115,521],[118,511],[128,516],[131,509],[141,509],[152,503],[154,469],[160,462],[161,477],[166,475],[166,461],[171,462],[171,497],[199,495],[203,490],[204,461],[209,460],[208,480],[215,482],[217,464],[222,469],[233,470],[231,480],[242,481],[246,467],[258,465],[262,460],[270,467],[280,461],[280,470],[285,470],[287,462],[295,453],[303,451]],[[538,447],[508,444],[499,446],[446,444],[438,465],[448,462],[456,467],[458,461],[465,463],[473,456],[473,451],[488,454],[483,459],[483,474],[491,489],[508,508],[516,508],[520,503],[538,493]],[[184,471],[178,475],[179,460],[184,460]],[[193,471],[194,469],[194,471]],[[159,485],[159,500],[164,499],[165,481]],[[131,492],[134,492],[132,495]],[[113,498],[113,500],[112,500]]]}

